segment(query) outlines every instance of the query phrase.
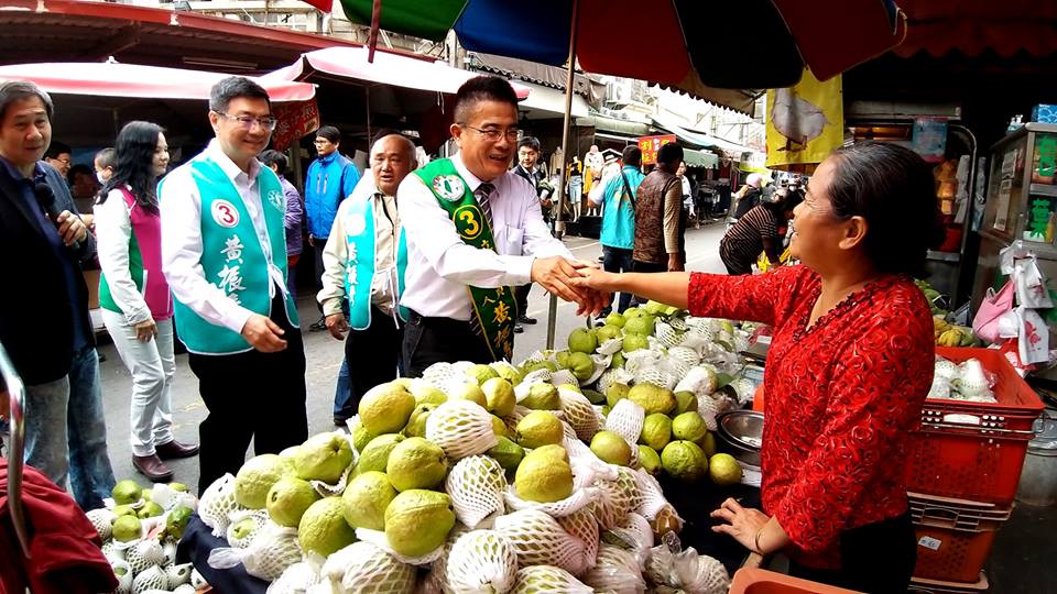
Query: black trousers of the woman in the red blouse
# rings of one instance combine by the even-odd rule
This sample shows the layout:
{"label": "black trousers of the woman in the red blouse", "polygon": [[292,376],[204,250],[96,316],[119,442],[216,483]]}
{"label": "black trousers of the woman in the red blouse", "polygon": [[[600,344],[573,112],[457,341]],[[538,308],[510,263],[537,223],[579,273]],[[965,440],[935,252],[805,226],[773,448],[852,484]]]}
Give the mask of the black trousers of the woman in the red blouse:
{"label": "black trousers of the woman in the red blouse", "polygon": [[868,524],[840,535],[840,569],[818,570],[789,562],[789,575],[856,592],[906,592],[917,561],[911,514]]}

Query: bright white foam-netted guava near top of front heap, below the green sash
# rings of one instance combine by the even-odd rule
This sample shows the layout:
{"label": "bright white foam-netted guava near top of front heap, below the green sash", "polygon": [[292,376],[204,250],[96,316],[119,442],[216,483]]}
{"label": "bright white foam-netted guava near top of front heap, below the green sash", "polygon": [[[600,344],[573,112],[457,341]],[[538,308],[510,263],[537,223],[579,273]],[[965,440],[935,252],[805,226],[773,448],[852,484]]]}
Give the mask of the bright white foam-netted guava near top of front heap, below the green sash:
{"label": "bright white foam-netted guava near top of front heap, below the green sash", "polygon": [[426,439],[455,460],[484,453],[499,443],[488,410],[462,399],[448,400],[429,414]]}

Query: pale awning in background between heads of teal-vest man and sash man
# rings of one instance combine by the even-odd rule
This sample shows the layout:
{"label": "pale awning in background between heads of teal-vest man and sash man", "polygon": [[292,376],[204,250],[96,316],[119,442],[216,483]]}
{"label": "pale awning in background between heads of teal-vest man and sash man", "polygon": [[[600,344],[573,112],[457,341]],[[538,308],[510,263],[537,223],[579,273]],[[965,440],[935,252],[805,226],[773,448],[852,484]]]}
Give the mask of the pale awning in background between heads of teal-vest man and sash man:
{"label": "pale awning in background between heads of teal-vest man and sash man", "polygon": [[[302,54],[297,62],[261,78],[315,80],[313,77],[318,75],[454,95],[464,82],[477,76],[444,63],[396,54],[378,52],[374,62],[368,62],[367,57],[367,47],[327,47]],[[511,86],[520,99],[528,97],[528,87],[516,81],[512,81]]]}

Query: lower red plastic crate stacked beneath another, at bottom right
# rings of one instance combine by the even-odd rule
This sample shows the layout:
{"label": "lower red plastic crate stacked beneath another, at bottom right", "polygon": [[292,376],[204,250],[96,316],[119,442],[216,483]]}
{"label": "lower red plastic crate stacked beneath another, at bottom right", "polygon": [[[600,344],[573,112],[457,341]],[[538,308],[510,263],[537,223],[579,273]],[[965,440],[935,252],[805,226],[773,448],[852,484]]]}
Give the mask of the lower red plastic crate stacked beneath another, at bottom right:
{"label": "lower red plastic crate stacked beneath another, at bottom right", "polygon": [[1009,521],[1013,507],[916,493],[909,496],[917,534],[914,578],[967,585],[977,582],[994,537]]}

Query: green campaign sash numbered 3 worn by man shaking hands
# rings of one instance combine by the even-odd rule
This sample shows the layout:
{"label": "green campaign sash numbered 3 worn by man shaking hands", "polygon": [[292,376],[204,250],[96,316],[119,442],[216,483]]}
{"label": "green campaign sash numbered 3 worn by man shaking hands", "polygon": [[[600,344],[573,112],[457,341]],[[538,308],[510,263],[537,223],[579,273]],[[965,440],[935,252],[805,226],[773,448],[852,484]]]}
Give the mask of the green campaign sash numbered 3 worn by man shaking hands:
{"label": "green campaign sash numbered 3 worn by man shaking hands", "polygon": [[[481,250],[495,250],[491,224],[451,160],[434,161],[414,173],[433,191],[440,208],[451,217],[464,243]],[[514,321],[517,319],[513,288],[467,286],[467,290],[473,304],[473,315],[484,332],[488,350],[497,361],[511,361],[514,354]]]}

